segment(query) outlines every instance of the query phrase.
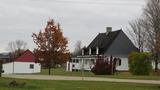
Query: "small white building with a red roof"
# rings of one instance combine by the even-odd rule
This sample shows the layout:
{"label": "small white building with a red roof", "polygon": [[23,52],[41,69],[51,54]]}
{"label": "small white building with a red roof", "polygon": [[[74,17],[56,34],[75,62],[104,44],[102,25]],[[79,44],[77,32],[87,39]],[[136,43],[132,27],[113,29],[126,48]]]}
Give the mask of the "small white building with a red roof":
{"label": "small white building with a red roof", "polygon": [[3,64],[3,74],[18,73],[40,73],[41,64],[36,63],[34,54],[30,50],[26,50],[14,62]]}

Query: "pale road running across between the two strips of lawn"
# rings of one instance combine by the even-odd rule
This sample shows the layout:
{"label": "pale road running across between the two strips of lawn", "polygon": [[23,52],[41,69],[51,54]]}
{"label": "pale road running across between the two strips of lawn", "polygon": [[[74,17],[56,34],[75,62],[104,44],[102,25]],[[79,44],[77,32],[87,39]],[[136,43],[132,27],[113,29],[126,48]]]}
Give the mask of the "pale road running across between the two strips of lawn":
{"label": "pale road running across between the two strips of lawn", "polygon": [[85,80],[85,81],[107,81],[107,82],[125,82],[125,83],[143,83],[160,84],[160,80],[131,80],[131,79],[113,79],[98,77],[75,77],[75,76],[55,76],[55,75],[2,75],[2,77],[36,79],[36,80]]}

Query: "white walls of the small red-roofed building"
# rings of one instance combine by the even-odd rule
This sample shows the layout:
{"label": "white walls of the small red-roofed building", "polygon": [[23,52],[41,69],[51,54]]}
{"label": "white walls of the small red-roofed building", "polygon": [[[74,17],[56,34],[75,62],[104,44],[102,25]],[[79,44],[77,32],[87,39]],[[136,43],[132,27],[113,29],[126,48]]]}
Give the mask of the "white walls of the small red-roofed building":
{"label": "white walls of the small red-roofed building", "polygon": [[[30,64],[33,65],[33,69],[30,68]],[[39,73],[41,72],[40,63],[34,62],[11,62],[3,64],[4,74],[12,73]]]}

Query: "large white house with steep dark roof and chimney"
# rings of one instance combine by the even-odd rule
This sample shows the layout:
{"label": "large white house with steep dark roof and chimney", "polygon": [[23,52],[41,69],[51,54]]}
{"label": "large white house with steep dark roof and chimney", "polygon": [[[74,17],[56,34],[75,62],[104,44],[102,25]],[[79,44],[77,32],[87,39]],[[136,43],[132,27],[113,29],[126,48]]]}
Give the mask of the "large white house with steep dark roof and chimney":
{"label": "large white house with steep dark roof and chimney", "polygon": [[82,49],[82,55],[72,57],[71,61],[67,62],[66,70],[91,70],[98,56],[104,59],[112,56],[119,58],[116,70],[128,71],[128,55],[133,51],[138,49],[123,30],[112,31],[111,27],[107,27],[105,33],[99,33],[86,48]]}

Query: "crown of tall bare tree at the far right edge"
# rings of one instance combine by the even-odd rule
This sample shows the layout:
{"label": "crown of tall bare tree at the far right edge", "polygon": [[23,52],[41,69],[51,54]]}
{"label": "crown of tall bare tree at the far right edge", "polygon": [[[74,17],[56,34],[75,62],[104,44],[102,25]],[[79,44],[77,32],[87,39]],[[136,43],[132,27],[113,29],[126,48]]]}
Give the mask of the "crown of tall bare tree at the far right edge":
{"label": "crown of tall bare tree at the far right edge", "polygon": [[158,54],[159,50],[159,34],[160,34],[160,0],[148,0],[144,8],[144,27],[148,34],[148,45],[154,54]]}

